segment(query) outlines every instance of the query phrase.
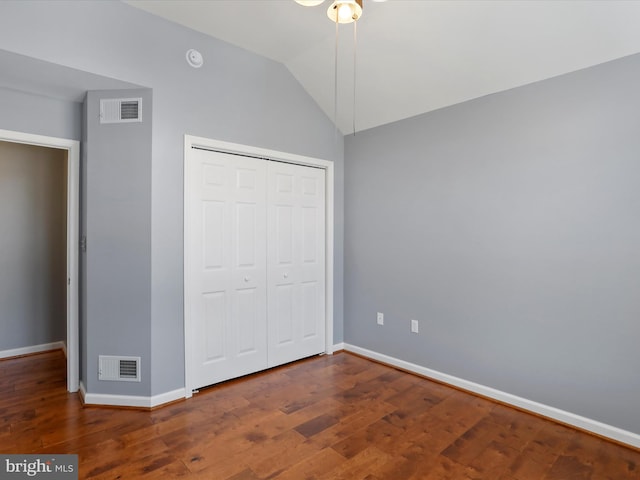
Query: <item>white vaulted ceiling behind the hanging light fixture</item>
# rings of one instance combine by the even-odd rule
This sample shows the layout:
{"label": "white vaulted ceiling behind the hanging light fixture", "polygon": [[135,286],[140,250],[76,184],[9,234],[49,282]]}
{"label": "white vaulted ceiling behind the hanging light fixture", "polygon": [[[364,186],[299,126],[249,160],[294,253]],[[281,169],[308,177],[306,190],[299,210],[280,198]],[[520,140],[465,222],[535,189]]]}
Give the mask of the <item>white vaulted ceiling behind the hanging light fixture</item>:
{"label": "white vaulted ceiling behind the hanging light fixture", "polygon": [[[283,63],[334,118],[331,0],[126,3]],[[351,133],[353,27],[339,30],[338,125]],[[356,50],[359,131],[639,53],[640,1],[364,0]]]}

